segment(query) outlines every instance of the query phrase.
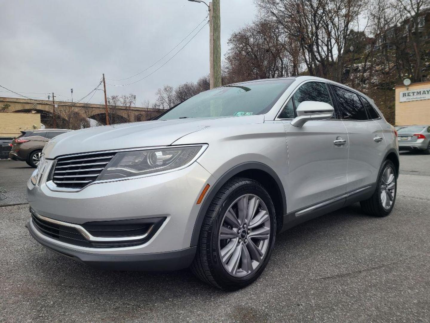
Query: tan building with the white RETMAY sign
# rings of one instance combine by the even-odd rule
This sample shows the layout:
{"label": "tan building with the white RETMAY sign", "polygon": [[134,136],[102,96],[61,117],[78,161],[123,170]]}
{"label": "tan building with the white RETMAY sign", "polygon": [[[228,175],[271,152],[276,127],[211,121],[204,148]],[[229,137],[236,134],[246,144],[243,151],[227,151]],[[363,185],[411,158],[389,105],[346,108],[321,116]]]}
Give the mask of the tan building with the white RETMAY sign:
{"label": "tan building with the white RETMAY sign", "polygon": [[396,125],[430,124],[430,81],[395,89]]}

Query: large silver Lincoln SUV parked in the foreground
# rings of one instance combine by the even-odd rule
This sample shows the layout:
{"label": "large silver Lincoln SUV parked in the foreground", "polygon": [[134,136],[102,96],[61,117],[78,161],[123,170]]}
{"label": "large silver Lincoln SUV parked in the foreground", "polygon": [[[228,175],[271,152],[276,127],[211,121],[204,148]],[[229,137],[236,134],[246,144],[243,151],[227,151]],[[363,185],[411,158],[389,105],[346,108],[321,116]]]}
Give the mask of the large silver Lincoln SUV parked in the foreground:
{"label": "large silver Lincoln SUV parked in the foreground", "polygon": [[31,235],[94,267],[178,270],[239,289],[275,236],[396,200],[394,128],[372,99],[314,77],[230,84],[157,120],[62,134],[28,181]]}

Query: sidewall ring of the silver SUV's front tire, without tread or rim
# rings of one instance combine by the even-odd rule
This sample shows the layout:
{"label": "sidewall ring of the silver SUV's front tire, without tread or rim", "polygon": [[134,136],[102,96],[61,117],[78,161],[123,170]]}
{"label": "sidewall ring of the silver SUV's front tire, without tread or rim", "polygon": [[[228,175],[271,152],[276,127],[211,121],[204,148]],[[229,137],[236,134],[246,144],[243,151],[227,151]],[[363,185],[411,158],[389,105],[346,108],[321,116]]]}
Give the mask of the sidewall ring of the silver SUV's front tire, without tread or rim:
{"label": "sidewall ring of the silver SUV's front tire, without tread or rim", "polygon": [[[210,235],[210,243],[209,245],[209,258],[210,264],[213,268],[212,275],[215,278],[215,281],[226,289],[237,289],[243,286],[246,286],[252,283],[254,280],[260,276],[261,272],[267,265],[267,262],[270,259],[271,252],[273,250],[273,245],[275,242],[276,236],[276,217],[275,217],[275,209],[273,206],[273,202],[270,199],[269,194],[266,190],[258,183],[253,180],[247,180],[248,183],[240,184],[236,187],[233,187],[227,194],[226,197],[222,200],[221,205],[217,209],[217,214],[215,220],[212,224],[212,230]],[[224,214],[227,212],[227,209],[230,205],[240,196],[245,194],[254,194],[258,196],[261,200],[263,200],[264,204],[267,207],[269,216],[270,216],[270,241],[269,246],[267,248],[266,255],[264,255],[264,260],[259,264],[258,268],[254,270],[249,275],[244,277],[234,277],[231,276],[224,269],[224,266],[221,262],[221,258],[218,250],[218,233],[224,218]],[[230,286],[230,287],[229,287]]]}

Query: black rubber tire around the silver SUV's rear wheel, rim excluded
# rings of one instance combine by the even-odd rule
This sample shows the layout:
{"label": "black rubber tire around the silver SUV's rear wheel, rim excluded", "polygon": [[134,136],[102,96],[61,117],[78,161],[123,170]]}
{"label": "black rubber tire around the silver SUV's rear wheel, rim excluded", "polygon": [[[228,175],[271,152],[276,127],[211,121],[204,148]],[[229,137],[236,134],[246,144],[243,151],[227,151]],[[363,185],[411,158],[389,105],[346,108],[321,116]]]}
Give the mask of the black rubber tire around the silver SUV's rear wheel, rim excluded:
{"label": "black rubber tire around the silver SUV's rear wheel, rim excluded", "polygon": [[[394,197],[393,197],[393,203],[391,204],[390,208],[386,209],[382,205],[381,201],[381,185],[383,182],[383,174],[387,167],[392,168],[394,172],[394,183],[395,183],[395,189],[394,189]],[[360,206],[363,211],[365,211],[367,214],[374,215],[376,217],[386,217],[388,214],[391,213],[391,211],[394,208],[395,202],[396,202],[396,195],[397,195],[397,170],[396,166],[391,162],[390,160],[385,160],[385,162],[382,164],[381,169],[379,170],[378,174],[378,180],[376,181],[376,189],[373,195],[365,200],[360,202]]]}

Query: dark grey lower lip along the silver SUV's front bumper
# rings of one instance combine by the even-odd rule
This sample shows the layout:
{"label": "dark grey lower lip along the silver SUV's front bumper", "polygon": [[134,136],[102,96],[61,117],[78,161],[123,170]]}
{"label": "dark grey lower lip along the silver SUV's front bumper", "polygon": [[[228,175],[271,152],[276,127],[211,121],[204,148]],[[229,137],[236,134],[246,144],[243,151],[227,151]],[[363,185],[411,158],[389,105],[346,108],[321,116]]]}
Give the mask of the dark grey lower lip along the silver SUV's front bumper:
{"label": "dark grey lower lip along the silver SUV's front bumper", "polygon": [[190,266],[196,254],[197,247],[185,248],[174,252],[158,252],[151,254],[103,255],[81,252],[61,247],[43,239],[41,233],[34,227],[32,220],[25,225],[31,236],[41,245],[60,255],[79,261],[83,264],[104,270],[142,270],[170,271],[180,270]]}

